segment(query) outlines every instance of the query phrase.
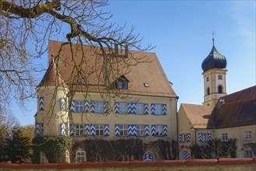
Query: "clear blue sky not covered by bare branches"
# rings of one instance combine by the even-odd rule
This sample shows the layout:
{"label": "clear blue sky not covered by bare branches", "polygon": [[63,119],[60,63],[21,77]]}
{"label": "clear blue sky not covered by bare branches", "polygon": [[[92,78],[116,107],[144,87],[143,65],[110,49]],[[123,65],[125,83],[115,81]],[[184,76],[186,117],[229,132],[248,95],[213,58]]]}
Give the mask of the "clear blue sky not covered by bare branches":
{"label": "clear blue sky not covered by bare branches", "polygon": [[[203,102],[202,61],[215,46],[227,60],[227,93],[256,84],[255,81],[255,1],[110,1],[106,10],[112,22],[135,26],[144,39],[153,44],[153,52],[180,103]],[[42,62],[47,63],[47,54]],[[41,79],[41,78],[40,78]],[[14,110],[21,125],[34,124],[36,101],[29,111]]]}

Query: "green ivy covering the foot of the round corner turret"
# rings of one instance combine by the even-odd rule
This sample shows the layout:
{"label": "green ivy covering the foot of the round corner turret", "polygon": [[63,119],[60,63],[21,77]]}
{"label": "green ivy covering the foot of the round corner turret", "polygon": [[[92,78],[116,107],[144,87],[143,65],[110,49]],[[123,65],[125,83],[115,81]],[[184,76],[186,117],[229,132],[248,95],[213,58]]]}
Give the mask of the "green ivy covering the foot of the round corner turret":
{"label": "green ivy covering the foot of the round corner turret", "polygon": [[32,162],[40,162],[40,152],[44,152],[48,162],[65,162],[65,152],[70,150],[73,140],[68,136],[36,137],[32,141]]}

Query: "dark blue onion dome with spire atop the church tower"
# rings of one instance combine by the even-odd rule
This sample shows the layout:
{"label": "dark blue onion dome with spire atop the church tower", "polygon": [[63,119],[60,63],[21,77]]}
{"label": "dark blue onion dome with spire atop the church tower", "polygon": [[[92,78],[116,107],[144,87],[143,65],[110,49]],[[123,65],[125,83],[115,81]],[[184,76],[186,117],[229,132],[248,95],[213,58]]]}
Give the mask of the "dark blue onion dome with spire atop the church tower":
{"label": "dark blue onion dome with spire atop the church tower", "polygon": [[214,43],[212,46],[212,51],[210,52],[208,57],[205,58],[205,60],[202,62],[202,70],[204,72],[207,72],[213,68],[226,68],[226,58],[223,54],[219,54],[214,46]]}

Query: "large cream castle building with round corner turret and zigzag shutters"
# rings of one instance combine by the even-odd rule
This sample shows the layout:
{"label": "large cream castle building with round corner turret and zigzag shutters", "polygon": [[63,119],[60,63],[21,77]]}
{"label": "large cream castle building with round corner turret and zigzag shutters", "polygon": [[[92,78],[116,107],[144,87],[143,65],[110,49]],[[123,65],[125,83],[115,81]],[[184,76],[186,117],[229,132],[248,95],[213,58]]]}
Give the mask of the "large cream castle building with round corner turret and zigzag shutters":
{"label": "large cream castle building with round corner turret and zigzag shutters", "polygon": [[48,45],[36,137],[71,137],[65,162],[173,159],[177,95],[156,54],[114,49],[113,56],[99,47],[62,45]]}

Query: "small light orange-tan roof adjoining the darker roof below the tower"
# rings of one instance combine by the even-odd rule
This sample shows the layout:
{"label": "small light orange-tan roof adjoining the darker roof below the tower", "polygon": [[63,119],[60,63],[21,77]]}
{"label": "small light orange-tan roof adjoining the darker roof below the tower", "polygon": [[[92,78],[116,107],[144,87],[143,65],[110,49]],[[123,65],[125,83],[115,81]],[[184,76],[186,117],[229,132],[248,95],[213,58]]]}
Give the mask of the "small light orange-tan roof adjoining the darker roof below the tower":
{"label": "small light orange-tan roof adjoining the darker roof below the tower", "polygon": [[209,124],[209,120],[211,120],[212,117],[213,106],[181,103],[181,107],[183,107],[188,120],[194,128],[212,128],[212,125]]}

